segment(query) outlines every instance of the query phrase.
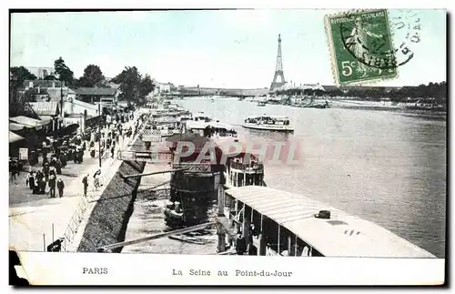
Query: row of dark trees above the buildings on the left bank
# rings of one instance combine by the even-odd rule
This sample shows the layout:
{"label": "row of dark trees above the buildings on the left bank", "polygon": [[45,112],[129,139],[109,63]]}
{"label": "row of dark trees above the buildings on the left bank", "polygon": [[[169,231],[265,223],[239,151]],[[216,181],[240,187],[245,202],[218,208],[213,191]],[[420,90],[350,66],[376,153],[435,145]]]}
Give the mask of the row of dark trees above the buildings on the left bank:
{"label": "row of dark trees above the buildings on the left bank", "polygon": [[[84,75],[78,79],[74,77],[73,71],[66,66],[65,60],[59,57],[54,62],[55,75],[45,76],[45,80],[60,80],[67,86],[87,86],[87,87],[109,87],[109,82],[119,84],[120,99],[136,104],[143,104],[146,96],[155,89],[155,85],[150,76],[142,76],[136,66],[126,66],[125,69],[107,81],[101,68],[96,65],[88,65],[84,69]],[[36,76],[30,73],[25,66],[15,66],[10,68],[10,87],[13,91],[22,86],[25,80],[35,80]]]}

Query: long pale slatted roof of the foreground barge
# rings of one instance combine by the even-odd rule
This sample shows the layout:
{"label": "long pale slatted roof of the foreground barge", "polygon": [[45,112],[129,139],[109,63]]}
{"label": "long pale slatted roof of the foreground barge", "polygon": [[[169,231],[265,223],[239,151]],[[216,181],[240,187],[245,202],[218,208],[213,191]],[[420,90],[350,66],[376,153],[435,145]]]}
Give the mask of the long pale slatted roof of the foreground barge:
{"label": "long pale slatted roof of the foreground barge", "polygon": [[[229,188],[226,193],[327,257],[436,258],[386,228],[304,196],[259,186]],[[330,218],[315,218],[319,210],[329,210]]]}

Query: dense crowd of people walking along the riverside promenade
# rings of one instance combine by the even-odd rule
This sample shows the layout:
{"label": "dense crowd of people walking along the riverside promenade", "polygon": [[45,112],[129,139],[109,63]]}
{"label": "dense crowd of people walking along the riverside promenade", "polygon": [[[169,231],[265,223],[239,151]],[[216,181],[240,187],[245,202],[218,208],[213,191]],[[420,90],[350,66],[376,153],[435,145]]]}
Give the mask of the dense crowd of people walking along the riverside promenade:
{"label": "dense crowd of people walking along the riverside promenade", "polygon": [[[120,138],[125,140],[126,137],[136,136],[138,132],[139,121],[136,121],[133,127],[124,125],[134,118],[132,112],[119,113],[116,116],[105,117],[104,122],[99,126],[87,127],[84,132],[79,131],[77,134],[61,137],[45,137],[40,146],[41,150],[38,148],[29,152],[27,164],[30,165],[31,170],[25,177],[25,186],[36,195],[48,193],[49,198],[64,197],[65,183],[60,175],[68,162],[72,160],[78,164],[82,163],[86,150],[89,151],[90,157],[104,157],[106,152],[110,157],[115,157],[116,148],[120,146]],[[39,151],[42,154],[41,162],[38,160]],[[15,184],[17,184],[16,176],[23,170],[22,166],[21,161],[10,158],[11,181]],[[89,186],[89,176],[87,174],[83,177],[84,196]],[[101,170],[93,175],[93,185],[96,189],[103,185]]]}

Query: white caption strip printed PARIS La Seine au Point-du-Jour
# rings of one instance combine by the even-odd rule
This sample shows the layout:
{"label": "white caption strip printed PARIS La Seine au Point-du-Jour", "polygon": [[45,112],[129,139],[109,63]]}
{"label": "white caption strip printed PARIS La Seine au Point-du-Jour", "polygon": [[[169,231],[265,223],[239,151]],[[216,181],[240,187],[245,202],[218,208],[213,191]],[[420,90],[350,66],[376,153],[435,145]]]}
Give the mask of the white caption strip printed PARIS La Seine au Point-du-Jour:
{"label": "white caption strip printed PARIS La Seine au Point-du-Jour", "polygon": [[[441,285],[444,259],[21,252],[34,285]],[[65,266],[62,266],[65,265]]]}

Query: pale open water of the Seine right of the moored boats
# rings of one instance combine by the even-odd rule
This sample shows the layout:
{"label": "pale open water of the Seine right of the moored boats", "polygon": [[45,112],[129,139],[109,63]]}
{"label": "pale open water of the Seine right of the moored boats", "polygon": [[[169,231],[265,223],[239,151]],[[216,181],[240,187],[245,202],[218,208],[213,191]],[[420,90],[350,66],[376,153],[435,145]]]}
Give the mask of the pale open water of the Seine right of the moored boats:
{"label": "pale open water of the Seine right of the moored boats", "polygon": [[[268,187],[368,219],[445,257],[446,121],[389,111],[259,107],[233,98],[176,102],[237,125],[240,137],[297,139],[301,164],[266,165]],[[262,114],[291,117],[294,133],[239,127],[245,117]]]}

